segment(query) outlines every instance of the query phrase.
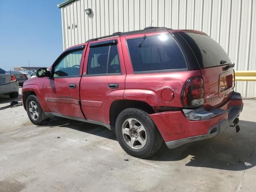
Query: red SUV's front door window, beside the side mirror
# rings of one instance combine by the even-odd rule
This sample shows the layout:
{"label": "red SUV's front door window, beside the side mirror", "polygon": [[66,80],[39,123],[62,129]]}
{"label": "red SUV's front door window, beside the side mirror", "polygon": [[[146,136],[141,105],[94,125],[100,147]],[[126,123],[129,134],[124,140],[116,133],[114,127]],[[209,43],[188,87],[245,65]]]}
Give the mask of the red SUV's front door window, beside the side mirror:
{"label": "red SUV's front door window, beside the side mirror", "polygon": [[74,51],[62,58],[54,67],[54,77],[79,75],[80,61],[83,50]]}

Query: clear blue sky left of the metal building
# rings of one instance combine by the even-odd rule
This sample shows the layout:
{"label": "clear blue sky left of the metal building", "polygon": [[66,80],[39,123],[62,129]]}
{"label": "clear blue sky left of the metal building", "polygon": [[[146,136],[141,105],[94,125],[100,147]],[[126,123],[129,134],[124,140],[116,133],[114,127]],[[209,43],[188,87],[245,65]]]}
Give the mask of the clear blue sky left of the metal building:
{"label": "clear blue sky left of the metal building", "polygon": [[0,0],[0,68],[49,67],[63,51],[63,0]]}

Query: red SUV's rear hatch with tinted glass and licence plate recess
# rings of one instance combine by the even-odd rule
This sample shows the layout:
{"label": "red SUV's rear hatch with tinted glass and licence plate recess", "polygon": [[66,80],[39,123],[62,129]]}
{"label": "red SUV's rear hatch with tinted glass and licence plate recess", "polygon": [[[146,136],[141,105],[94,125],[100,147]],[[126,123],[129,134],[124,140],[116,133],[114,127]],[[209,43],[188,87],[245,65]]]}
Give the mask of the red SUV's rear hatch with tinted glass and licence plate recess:
{"label": "red SUV's rear hatch with tinted glass and licence plate recess", "polygon": [[204,108],[211,110],[224,104],[234,90],[234,69],[225,50],[204,34],[182,32],[198,60],[204,80]]}

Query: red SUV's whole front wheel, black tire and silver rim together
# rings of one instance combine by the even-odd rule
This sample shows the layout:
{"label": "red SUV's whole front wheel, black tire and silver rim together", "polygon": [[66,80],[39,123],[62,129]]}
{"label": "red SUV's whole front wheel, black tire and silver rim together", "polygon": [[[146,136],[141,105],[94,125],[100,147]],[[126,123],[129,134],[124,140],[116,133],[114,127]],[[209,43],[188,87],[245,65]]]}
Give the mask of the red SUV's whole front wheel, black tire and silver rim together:
{"label": "red SUV's whole front wheel, black tire and silver rim together", "polygon": [[42,125],[46,123],[49,118],[44,114],[37,96],[30,95],[26,100],[26,110],[28,118],[35,125]]}

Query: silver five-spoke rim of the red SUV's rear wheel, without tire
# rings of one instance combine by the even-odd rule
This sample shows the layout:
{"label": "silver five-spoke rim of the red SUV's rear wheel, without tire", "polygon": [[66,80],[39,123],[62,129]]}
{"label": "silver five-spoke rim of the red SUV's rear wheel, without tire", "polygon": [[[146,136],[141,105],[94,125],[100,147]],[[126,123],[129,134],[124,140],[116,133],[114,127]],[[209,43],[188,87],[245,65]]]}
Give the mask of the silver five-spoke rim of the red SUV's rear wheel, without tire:
{"label": "silver five-spoke rim of the red SUV's rear wheel, without tire", "polygon": [[147,133],[140,121],[128,118],[122,124],[122,136],[126,144],[133,149],[142,149],[147,142]]}

